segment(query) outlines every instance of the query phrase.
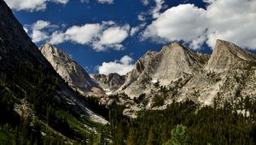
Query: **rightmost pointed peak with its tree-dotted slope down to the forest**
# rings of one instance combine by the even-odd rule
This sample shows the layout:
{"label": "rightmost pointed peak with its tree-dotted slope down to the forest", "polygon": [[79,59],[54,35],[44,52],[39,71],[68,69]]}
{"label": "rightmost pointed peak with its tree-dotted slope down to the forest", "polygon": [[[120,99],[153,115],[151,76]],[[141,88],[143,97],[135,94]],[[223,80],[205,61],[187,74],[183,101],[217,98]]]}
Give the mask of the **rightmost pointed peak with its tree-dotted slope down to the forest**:
{"label": "rightmost pointed peak with its tree-dotted slope down to the forest", "polygon": [[[217,40],[211,58],[202,70],[184,85],[177,86],[177,100],[191,99],[203,105],[239,102],[256,91],[255,55],[227,41]],[[166,101],[168,102],[168,101]]]}

